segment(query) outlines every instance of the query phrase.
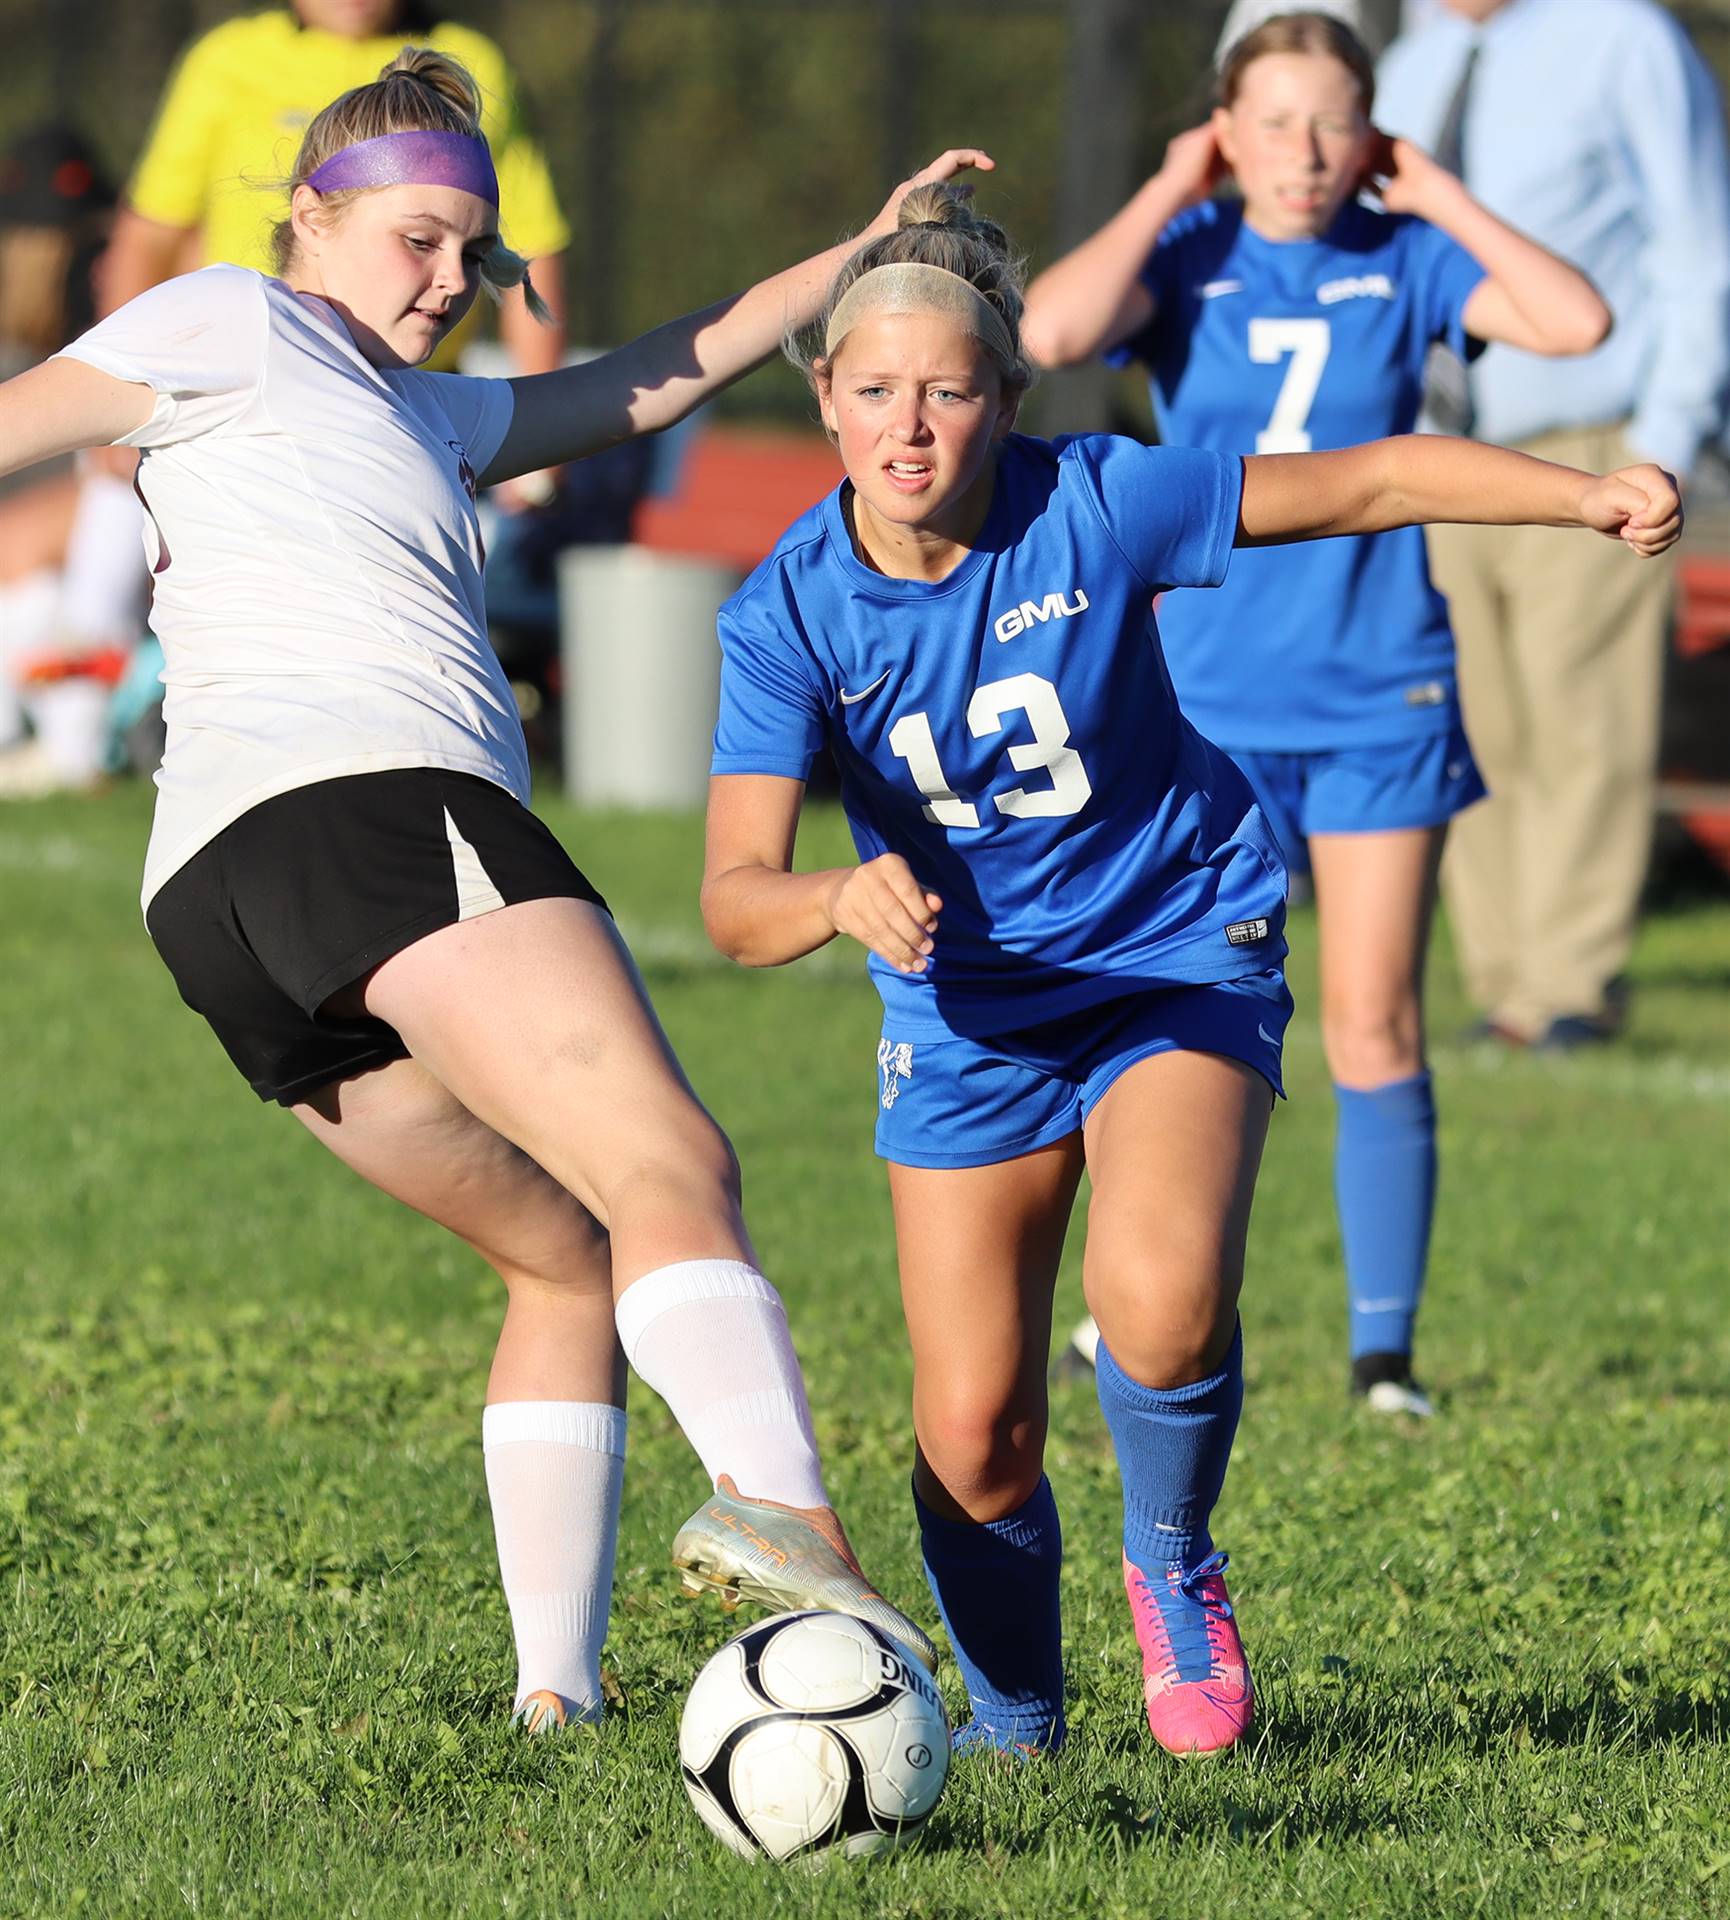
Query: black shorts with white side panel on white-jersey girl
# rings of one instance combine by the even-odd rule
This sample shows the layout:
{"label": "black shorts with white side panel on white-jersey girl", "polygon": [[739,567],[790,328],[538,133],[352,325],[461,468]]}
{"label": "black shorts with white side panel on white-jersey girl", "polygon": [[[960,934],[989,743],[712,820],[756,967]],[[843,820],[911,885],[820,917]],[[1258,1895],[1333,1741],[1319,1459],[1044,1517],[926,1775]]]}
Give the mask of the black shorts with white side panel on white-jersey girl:
{"label": "black shorts with white side panel on white-jersey girl", "polygon": [[180,998],[253,1092],[294,1106],[409,1052],[382,1020],[323,1014],[330,995],[426,933],[520,900],[607,906],[503,787],[413,766],[263,801],[144,918]]}

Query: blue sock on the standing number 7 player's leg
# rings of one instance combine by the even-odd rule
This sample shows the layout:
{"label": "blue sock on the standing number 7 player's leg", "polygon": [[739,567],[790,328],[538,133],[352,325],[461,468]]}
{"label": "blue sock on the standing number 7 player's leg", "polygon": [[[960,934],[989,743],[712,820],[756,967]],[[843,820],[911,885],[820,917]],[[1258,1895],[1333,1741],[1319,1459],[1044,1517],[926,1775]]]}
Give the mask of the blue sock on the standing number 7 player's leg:
{"label": "blue sock on the standing number 7 player's leg", "polygon": [[1409,1354],[1436,1210],[1429,1071],[1359,1092],[1334,1087],[1334,1194],[1346,1246],[1352,1359]]}

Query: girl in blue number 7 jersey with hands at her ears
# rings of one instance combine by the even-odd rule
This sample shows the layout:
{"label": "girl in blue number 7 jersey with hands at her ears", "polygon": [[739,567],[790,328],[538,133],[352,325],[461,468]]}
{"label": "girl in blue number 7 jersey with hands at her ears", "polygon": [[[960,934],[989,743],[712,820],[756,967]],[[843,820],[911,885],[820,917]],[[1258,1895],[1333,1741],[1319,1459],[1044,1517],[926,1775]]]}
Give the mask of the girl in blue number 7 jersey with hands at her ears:
{"label": "girl in blue number 7 jersey with hands at her ears", "polygon": [[[1035,357],[1142,361],[1171,445],[1300,453],[1409,432],[1434,344],[1596,346],[1609,313],[1592,284],[1382,140],[1373,90],[1369,54],[1327,13],[1246,35],[1212,121],[1029,288]],[[1206,198],[1225,169],[1242,200]],[[1358,200],[1371,175],[1381,211]],[[1484,793],[1448,609],[1423,536],[1404,528],[1244,555],[1217,595],[1173,595],[1160,630],[1183,710],[1250,776],[1292,868],[1308,843],[1352,1384],[1371,1407],[1425,1415],[1411,1377],[1436,1187],[1423,962],[1448,820]]]}

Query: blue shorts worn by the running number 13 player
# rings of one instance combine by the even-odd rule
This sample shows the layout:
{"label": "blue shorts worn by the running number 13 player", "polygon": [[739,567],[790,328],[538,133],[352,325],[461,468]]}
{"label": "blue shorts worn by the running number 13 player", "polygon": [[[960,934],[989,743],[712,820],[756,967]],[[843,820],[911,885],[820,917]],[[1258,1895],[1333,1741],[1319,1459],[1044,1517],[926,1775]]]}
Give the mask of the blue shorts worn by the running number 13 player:
{"label": "blue shorts worn by the running number 13 player", "polygon": [[1213,987],[1106,1000],[989,1041],[877,1041],[877,1154],[902,1167],[989,1167],[1079,1133],[1152,1054],[1225,1054],[1285,1094],[1292,996],[1269,968]]}

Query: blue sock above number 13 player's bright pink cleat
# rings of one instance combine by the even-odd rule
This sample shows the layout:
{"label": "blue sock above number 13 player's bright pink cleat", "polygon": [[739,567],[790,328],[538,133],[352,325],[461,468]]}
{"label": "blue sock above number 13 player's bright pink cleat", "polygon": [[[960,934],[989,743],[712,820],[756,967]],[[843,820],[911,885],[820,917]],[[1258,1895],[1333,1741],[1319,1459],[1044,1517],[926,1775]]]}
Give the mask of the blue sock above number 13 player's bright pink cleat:
{"label": "blue sock above number 13 player's bright pink cleat", "polygon": [[1242,1327],[1225,1365],[1189,1386],[1131,1380],[1100,1340],[1094,1382],[1123,1482],[1123,1553],[1142,1572],[1167,1561],[1194,1567],[1213,1551],[1208,1519],[1244,1407]]}

